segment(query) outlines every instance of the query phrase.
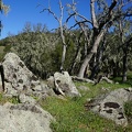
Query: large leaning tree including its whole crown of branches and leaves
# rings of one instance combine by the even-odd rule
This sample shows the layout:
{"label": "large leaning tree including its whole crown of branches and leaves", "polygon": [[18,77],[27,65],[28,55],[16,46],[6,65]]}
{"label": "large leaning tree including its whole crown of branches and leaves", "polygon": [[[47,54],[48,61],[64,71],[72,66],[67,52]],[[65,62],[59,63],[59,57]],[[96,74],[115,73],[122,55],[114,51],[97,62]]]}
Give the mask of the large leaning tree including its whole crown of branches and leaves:
{"label": "large leaning tree including its whole crown of branches and leaves", "polygon": [[[91,32],[90,32],[91,37],[89,35],[88,44],[90,45],[90,51],[87,53],[87,55],[85,56],[81,63],[81,66],[78,73],[79,77],[84,77],[85,70],[88,64],[90,63],[92,56],[97,55],[97,51],[102,37],[107,33],[107,31],[111,28],[111,25],[113,25],[114,21],[119,20],[121,16],[125,18],[125,16],[132,15],[132,10],[130,10],[131,8],[128,7],[128,4],[131,1],[122,0],[122,7],[125,8],[125,10],[119,11],[118,7],[121,6],[120,1],[121,0],[113,0],[113,1],[110,1],[110,4],[109,4],[109,2],[106,0],[90,0],[90,15],[91,15],[90,19],[87,19],[86,16],[79,14],[79,12],[75,8],[74,0],[73,0],[73,4],[68,4],[70,10],[73,10],[73,12],[69,14],[68,20],[75,15],[76,18],[77,16],[79,18],[78,22],[76,21],[74,26],[76,25],[80,26],[80,23],[81,23],[81,25],[86,26],[86,29],[87,26],[91,29]],[[98,10],[96,6],[99,7]]]}

